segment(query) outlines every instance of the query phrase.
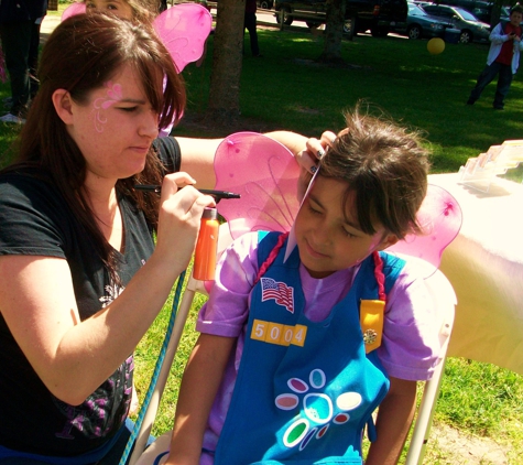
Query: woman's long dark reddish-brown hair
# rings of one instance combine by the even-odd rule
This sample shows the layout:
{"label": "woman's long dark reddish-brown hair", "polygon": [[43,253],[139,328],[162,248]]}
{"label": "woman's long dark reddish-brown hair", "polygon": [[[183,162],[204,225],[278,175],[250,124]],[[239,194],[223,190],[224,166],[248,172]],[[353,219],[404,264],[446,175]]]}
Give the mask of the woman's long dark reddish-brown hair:
{"label": "woman's long dark reddish-brown hair", "polygon": [[[65,89],[78,105],[87,105],[91,93],[103,87],[123,66],[132,66],[160,127],[177,120],[185,106],[185,88],[173,61],[155,33],[109,14],[77,14],[62,22],[42,52],[40,89],[19,139],[17,165],[33,165],[51,177],[67,204],[94,238],[97,251],[115,275],[112,248],[95,221],[85,191],[86,161],[53,106],[53,94]],[[163,80],[163,85],[162,85]],[[134,184],[161,184],[164,167],[151,148],[144,170],[117,182],[117,191],[130,196],[154,229],[159,198],[138,193]]]}

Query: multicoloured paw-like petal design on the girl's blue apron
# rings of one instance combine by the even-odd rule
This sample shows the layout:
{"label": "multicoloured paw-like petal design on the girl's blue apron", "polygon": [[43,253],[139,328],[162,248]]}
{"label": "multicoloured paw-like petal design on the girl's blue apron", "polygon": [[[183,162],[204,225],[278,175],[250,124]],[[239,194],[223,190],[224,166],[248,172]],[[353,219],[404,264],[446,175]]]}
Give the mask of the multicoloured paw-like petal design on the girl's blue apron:
{"label": "multicoloured paw-like petal design on the girl's blue apron", "polygon": [[330,424],[347,423],[350,419],[348,412],[361,404],[362,399],[358,392],[342,392],[333,401],[320,391],[325,383],[325,372],[322,369],[313,369],[308,383],[299,378],[290,378],[287,386],[293,392],[276,397],[275,403],[281,410],[294,410],[302,402],[301,418],[283,434],[286,447],[299,444],[299,451],[303,451],[314,437],[324,437]]}

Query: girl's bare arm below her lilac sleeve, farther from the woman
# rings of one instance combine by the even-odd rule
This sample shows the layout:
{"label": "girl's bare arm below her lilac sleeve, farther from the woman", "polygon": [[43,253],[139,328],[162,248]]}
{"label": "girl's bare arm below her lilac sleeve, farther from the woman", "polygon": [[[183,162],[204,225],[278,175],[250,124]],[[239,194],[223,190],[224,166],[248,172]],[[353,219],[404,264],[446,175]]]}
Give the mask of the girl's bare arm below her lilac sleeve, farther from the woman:
{"label": "girl's bare arm below her lilac sleeve, farther from the woman", "polygon": [[414,417],[416,386],[416,381],[391,377],[391,388],[378,410],[378,439],[370,446],[366,465],[397,463]]}

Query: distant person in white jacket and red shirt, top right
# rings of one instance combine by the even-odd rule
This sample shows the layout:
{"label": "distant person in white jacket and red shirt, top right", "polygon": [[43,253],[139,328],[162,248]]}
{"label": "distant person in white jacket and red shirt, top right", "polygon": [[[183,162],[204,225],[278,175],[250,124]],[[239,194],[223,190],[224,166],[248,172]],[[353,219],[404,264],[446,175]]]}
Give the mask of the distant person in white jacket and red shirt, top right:
{"label": "distant person in white jacket and red shirt, top right", "polygon": [[504,99],[509,94],[512,78],[520,65],[520,52],[523,50],[522,28],[523,7],[515,4],[510,10],[510,21],[500,22],[490,33],[490,50],[487,66],[478,77],[476,87],[470,93],[467,105],[473,105],[483,89],[498,75],[498,85],[493,107],[495,110],[504,108]]}

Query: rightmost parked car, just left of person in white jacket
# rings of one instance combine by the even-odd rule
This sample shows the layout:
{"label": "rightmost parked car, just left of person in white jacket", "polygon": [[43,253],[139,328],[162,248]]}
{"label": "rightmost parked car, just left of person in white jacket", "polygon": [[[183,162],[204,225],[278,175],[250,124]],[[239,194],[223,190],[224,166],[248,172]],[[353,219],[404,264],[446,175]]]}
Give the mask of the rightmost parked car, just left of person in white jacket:
{"label": "rightmost parked car, just left of person in white jacket", "polygon": [[422,7],[428,14],[453,23],[454,29],[460,31],[460,43],[489,42],[490,24],[481,22],[462,8],[435,3],[422,3]]}

